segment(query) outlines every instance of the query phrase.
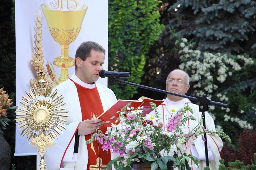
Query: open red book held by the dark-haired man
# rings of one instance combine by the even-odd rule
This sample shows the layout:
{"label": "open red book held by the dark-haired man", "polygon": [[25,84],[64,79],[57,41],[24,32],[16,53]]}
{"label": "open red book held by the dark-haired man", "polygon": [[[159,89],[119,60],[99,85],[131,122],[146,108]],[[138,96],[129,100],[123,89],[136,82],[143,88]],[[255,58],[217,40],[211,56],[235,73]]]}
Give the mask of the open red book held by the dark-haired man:
{"label": "open red book held by the dark-haired man", "polygon": [[106,127],[111,127],[112,123],[119,124],[119,120],[116,122],[117,118],[119,117],[119,114],[117,112],[121,111],[121,109],[130,102],[131,105],[129,107],[133,107],[133,110],[136,110],[138,107],[143,106],[143,108],[140,109],[142,110],[143,117],[153,111],[150,102],[155,103],[156,107],[163,103],[163,101],[157,101],[147,97],[141,97],[137,101],[119,99],[113,106],[111,106],[108,110],[99,115],[96,119],[101,119],[102,121],[104,121],[105,123],[103,124],[103,126]]}

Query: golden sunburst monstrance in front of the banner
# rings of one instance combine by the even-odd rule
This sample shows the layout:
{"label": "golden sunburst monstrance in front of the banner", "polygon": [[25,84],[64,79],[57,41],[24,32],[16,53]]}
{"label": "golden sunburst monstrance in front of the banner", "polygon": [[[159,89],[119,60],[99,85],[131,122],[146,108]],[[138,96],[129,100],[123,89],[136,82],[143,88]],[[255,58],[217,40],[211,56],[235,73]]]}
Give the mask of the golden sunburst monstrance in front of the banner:
{"label": "golden sunburst monstrance in front of the banner", "polygon": [[16,124],[19,130],[22,129],[22,136],[27,136],[27,140],[31,140],[35,148],[41,156],[40,170],[46,170],[44,160],[45,147],[50,148],[55,145],[53,139],[57,139],[57,135],[63,134],[61,129],[65,129],[67,122],[64,118],[67,111],[63,108],[62,95],[57,96],[57,91],[49,88],[48,84],[44,85],[43,73],[39,74],[38,86],[26,92],[27,96],[23,96],[16,112]]}

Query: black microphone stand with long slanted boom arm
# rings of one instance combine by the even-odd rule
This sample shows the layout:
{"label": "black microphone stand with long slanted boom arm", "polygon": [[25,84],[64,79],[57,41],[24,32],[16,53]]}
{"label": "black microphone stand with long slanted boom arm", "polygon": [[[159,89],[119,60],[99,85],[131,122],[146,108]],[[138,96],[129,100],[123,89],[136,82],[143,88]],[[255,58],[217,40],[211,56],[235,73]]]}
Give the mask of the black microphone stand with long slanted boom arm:
{"label": "black microphone stand with long slanted boom arm", "polygon": [[[124,81],[124,80],[119,79],[119,77],[115,77],[115,79],[116,79],[117,82],[119,82],[121,84],[128,84],[128,85],[131,85],[131,86],[135,86],[135,87],[139,87],[139,88],[143,88],[143,89],[148,89],[148,90],[153,90],[153,91],[157,91],[157,92],[160,92],[160,93],[171,94],[171,95],[174,95],[174,96],[184,97],[184,98],[188,98],[190,100],[199,102],[199,111],[202,112],[202,115],[203,115],[203,126],[205,128],[206,128],[206,125],[205,125],[204,112],[209,110],[210,105],[214,105],[214,106],[217,106],[217,107],[223,107],[223,108],[227,108],[228,107],[227,104],[224,104],[224,103],[221,103],[221,102],[214,102],[214,101],[212,101],[205,94],[203,94],[203,96],[200,96],[200,97],[191,97],[191,96],[186,96],[186,95],[183,95],[183,94],[168,92],[166,90],[160,90],[160,89],[156,89],[156,88],[153,88],[153,87],[143,86],[143,85],[140,85],[140,84]],[[205,149],[206,166],[209,167],[208,146],[207,146],[207,136],[206,136],[206,133],[203,134],[203,137],[205,139],[204,149]]]}

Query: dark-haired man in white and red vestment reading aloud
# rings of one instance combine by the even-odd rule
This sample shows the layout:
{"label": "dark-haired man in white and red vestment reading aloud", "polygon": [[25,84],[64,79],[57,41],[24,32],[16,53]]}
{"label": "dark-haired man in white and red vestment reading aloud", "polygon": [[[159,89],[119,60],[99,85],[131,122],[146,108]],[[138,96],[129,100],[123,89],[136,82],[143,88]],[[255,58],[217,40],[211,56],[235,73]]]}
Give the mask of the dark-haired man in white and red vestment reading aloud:
{"label": "dark-haired man in white and red vestment reading aloud", "polygon": [[[103,151],[98,141],[86,145],[96,130],[106,132],[103,121],[92,119],[116,102],[112,90],[97,83],[105,60],[105,50],[95,42],[84,42],[76,50],[75,74],[55,87],[63,95],[68,121],[63,134],[46,149],[48,170],[105,170],[111,160],[110,151]],[[40,156],[37,158],[38,164]],[[39,166],[38,166],[39,167]]]}

